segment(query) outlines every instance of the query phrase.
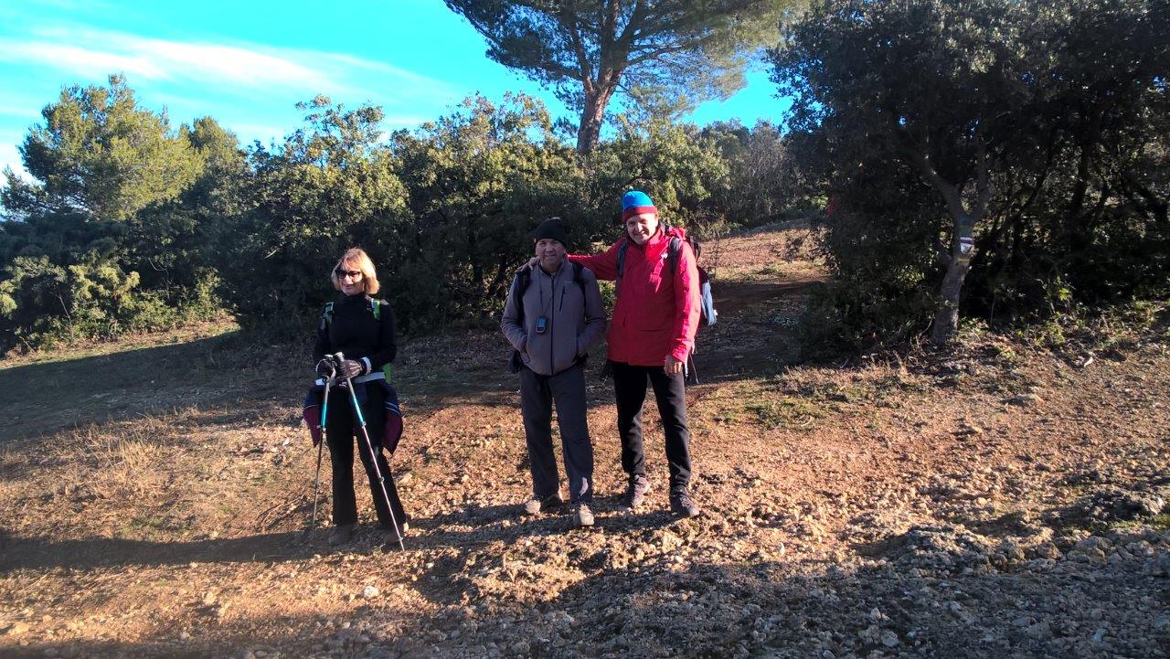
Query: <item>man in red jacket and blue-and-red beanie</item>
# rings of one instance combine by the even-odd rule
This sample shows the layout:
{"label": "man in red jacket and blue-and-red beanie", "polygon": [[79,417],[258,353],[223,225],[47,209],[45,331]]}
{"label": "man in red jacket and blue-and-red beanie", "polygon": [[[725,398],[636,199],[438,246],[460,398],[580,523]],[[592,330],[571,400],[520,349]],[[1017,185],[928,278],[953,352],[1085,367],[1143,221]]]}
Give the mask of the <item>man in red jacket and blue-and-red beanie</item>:
{"label": "man in red jacket and blue-and-red beanie", "polygon": [[684,517],[700,514],[690,497],[690,430],[683,387],[687,356],[698,329],[698,270],[680,228],[659,221],[645,192],[621,198],[626,235],[592,256],[570,255],[599,280],[617,282],[610,323],[610,362],[618,403],[621,467],[629,475],[622,503],[636,508],[649,492],[642,448],[642,404],[646,386],[654,387],[666,457],[670,465],[670,510]]}

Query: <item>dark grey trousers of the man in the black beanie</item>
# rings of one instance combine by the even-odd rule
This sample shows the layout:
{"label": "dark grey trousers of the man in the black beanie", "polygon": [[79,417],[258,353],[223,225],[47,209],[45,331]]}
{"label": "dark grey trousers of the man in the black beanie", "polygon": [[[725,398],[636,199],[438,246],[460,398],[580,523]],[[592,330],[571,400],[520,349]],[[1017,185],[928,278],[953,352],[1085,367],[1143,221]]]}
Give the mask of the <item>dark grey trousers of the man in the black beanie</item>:
{"label": "dark grey trousers of the man in the black beanie", "polygon": [[552,496],[560,476],[552,453],[552,404],[557,404],[557,425],[569,475],[569,500],[593,501],[593,444],[585,418],[585,368],[581,364],[553,376],[542,376],[528,366],[519,371],[521,411],[524,437],[532,469],[532,494]]}

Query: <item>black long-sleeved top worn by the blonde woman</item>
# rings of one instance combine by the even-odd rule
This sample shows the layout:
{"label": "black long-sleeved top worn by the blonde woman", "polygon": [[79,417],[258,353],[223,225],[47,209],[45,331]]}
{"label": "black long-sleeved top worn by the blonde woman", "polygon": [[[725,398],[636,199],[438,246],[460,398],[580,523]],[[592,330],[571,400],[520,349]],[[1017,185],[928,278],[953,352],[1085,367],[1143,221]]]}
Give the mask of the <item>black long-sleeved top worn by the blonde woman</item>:
{"label": "black long-sleeved top worn by the blonde woman", "polygon": [[[380,318],[376,320],[372,304],[379,303]],[[346,359],[369,358],[371,372],[393,362],[398,345],[394,344],[394,315],[390,311],[390,304],[364,294],[347,295],[336,301],[332,320],[326,323],[324,316],[321,318],[312,357],[319,361],[326,353],[337,352],[344,352]]]}

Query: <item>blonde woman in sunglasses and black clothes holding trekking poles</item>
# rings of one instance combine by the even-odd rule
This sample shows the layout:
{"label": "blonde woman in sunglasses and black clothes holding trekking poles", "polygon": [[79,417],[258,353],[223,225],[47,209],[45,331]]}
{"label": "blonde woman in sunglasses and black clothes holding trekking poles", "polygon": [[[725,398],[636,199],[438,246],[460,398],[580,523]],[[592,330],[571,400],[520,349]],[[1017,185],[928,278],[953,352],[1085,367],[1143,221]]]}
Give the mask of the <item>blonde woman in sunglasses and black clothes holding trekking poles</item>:
{"label": "blonde woman in sunglasses and black clothes holding trekking poles", "polygon": [[[318,375],[339,376],[329,391],[329,405],[324,419],[324,439],[329,446],[333,473],[333,530],[329,536],[329,543],[338,545],[347,542],[358,521],[357,500],[353,494],[355,446],[370,479],[378,521],[386,529],[391,542],[400,542],[405,531],[406,515],[398,499],[390,465],[383,453],[383,448],[386,448],[393,454],[402,432],[398,394],[386,380],[384,372],[397,352],[394,316],[390,304],[373,297],[380,286],[373,262],[364,250],[347,249],[337,261],[329,279],[340,295],[325,306],[317,328],[317,343],[314,346]],[[344,355],[344,359],[332,358],[338,352]],[[352,398],[346,386],[336,385],[346,379],[353,384]],[[353,398],[360,405],[372,446],[365,445],[365,435],[362,434],[352,405]],[[317,400],[319,399],[318,393]],[[314,444],[317,444],[321,441],[321,427],[319,421],[314,424],[310,419],[311,403],[310,398],[305,406],[305,420],[310,431],[316,428]],[[319,419],[319,410],[316,413]],[[393,510],[393,516],[387,503]]]}

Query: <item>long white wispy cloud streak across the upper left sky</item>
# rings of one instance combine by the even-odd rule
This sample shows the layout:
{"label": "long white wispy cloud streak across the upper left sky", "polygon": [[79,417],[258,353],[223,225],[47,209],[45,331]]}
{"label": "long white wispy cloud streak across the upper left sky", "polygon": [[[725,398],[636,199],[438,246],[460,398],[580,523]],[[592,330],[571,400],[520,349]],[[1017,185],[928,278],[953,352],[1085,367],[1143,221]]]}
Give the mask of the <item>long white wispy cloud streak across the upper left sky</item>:
{"label": "long white wispy cloud streak across the upper left sky", "polygon": [[442,81],[347,54],[168,41],[85,28],[48,28],[27,39],[0,39],[0,62],[44,66],[85,78],[125,73],[132,81],[198,82],[245,96],[269,91],[370,99],[454,95]]}

